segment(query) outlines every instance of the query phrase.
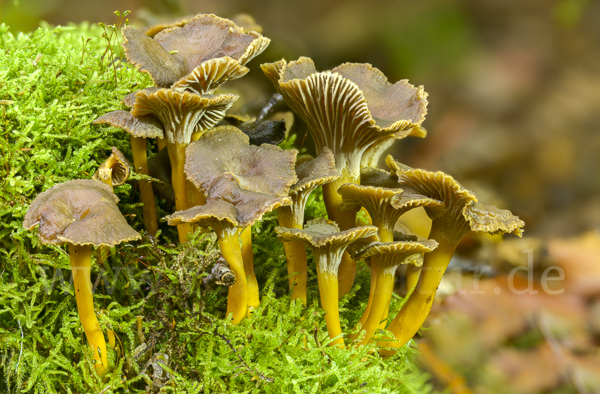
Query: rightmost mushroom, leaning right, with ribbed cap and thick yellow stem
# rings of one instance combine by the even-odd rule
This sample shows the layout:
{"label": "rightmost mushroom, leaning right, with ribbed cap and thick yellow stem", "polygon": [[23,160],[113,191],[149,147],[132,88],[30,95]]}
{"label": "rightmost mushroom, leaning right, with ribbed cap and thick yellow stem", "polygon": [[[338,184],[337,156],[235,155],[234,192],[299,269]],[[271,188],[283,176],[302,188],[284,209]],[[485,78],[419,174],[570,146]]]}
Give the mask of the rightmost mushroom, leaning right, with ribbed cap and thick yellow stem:
{"label": "rightmost mushroom, leaning right, with ribbed cap and thick yellow stem", "polygon": [[[400,169],[397,175],[402,187],[442,201],[445,210],[440,215],[439,212],[425,209],[432,219],[429,238],[437,241],[439,246],[425,255],[415,290],[388,328],[396,338],[387,344],[392,348],[407,343],[429,315],[436,290],[454,250],[468,231],[513,233],[520,237],[524,226],[523,221],[510,211],[477,201],[471,191],[443,172]],[[382,351],[384,355],[393,353],[390,350]]]}

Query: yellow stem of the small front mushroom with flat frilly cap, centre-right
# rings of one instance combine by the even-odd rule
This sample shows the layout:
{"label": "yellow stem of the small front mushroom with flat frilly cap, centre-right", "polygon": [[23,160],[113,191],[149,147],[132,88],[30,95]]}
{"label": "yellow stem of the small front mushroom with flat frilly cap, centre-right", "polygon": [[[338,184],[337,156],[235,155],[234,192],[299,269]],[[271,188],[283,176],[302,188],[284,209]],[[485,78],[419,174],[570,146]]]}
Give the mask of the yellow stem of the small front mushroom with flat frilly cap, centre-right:
{"label": "yellow stem of the small front mushroom with flat frilly cap, centre-right", "polygon": [[[319,265],[319,264],[318,264]],[[317,266],[318,266],[317,265]],[[321,306],[325,310],[325,323],[331,345],[345,348],[344,339],[341,337],[340,312],[338,308],[338,278],[333,272],[317,269],[317,281],[319,282],[319,294],[321,295]],[[333,339],[338,337],[336,339]]]}

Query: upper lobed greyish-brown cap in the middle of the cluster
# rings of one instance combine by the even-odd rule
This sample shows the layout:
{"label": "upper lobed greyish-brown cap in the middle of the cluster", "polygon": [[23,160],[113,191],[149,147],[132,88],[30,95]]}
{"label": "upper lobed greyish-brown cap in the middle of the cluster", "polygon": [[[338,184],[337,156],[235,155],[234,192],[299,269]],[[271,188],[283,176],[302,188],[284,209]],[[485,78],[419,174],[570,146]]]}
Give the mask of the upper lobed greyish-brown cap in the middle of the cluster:
{"label": "upper lobed greyish-brown cap in the middle of the cluster", "polygon": [[297,180],[294,162],[298,152],[248,143],[248,136],[233,126],[207,131],[186,148],[188,179],[205,193],[214,179],[224,176],[235,180],[245,190],[287,196],[290,186]]}

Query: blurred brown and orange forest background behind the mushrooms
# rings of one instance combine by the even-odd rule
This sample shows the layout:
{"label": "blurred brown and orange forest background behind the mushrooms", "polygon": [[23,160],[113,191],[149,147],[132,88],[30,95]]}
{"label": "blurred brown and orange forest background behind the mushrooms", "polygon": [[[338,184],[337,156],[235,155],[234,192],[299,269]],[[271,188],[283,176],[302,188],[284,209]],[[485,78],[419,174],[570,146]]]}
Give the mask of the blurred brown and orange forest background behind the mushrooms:
{"label": "blurred brown and orange forest background behind the mushrooms", "polygon": [[369,62],[424,85],[427,138],[389,153],[526,222],[522,240],[463,242],[418,341],[424,368],[457,393],[600,393],[600,2],[3,0],[0,22],[109,24],[115,10],[140,28],[253,16],[272,43],[237,87],[247,107],[273,93],[258,64],[281,58]]}

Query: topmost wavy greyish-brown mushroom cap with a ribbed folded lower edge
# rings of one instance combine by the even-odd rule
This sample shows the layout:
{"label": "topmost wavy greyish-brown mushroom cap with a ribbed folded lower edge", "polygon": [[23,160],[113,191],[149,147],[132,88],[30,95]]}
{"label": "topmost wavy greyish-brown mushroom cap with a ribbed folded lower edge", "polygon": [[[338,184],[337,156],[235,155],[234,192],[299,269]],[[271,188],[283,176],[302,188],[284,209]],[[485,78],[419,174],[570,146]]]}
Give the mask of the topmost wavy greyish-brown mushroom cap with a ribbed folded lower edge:
{"label": "topmost wavy greyish-brown mushroom cap with a ribbed folded lower edge", "polygon": [[197,15],[154,38],[127,26],[123,37],[127,60],[148,73],[157,87],[190,88],[201,93],[212,93],[223,82],[246,74],[244,65],[270,42],[212,14]]}

